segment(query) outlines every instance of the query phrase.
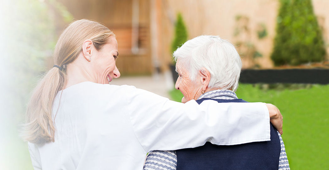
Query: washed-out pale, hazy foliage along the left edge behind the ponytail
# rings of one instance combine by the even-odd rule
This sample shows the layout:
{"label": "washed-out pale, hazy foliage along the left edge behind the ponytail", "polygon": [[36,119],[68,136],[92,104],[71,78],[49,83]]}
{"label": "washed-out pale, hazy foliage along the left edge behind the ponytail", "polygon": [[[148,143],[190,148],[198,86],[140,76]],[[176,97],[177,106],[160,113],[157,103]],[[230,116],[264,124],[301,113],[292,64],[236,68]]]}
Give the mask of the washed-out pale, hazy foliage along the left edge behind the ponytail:
{"label": "washed-out pale, hazy foliage along the left edge behind the ponytail", "polygon": [[2,13],[5,17],[0,18],[4,25],[0,28],[0,38],[3,38],[0,45],[4,52],[0,56],[3,61],[0,70],[5,71],[1,71],[0,75],[4,87],[1,93],[4,99],[0,100],[0,116],[4,123],[0,123],[0,131],[5,132],[1,134],[5,148],[0,146],[0,155],[6,157],[3,157],[4,164],[0,163],[0,166],[2,169],[28,170],[33,167],[27,144],[18,137],[18,125],[23,123],[31,89],[40,73],[48,70],[46,64],[57,40],[55,14],[59,13],[62,18],[57,19],[65,21],[71,21],[72,17],[56,0],[6,1],[0,6]]}

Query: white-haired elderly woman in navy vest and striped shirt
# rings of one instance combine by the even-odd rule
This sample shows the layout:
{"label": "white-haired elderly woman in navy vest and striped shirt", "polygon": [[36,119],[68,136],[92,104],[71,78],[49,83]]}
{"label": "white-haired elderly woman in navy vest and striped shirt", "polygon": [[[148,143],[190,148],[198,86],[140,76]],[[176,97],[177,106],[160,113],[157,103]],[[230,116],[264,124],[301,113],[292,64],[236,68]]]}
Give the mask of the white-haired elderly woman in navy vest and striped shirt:
{"label": "white-haired elderly woman in navy vest and striped shirt", "polygon": [[[218,36],[198,36],[185,42],[173,56],[179,75],[175,87],[184,95],[182,103],[190,100],[196,100],[199,104],[205,101],[246,102],[234,93],[238,88],[242,63],[229,41]],[[176,170],[176,167],[179,170],[287,170],[289,163],[281,135],[272,125],[270,127],[271,141],[267,142],[233,146],[217,146],[207,142],[190,149],[152,151],[146,158],[144,170]],[[227,131],[235,133],[229,129]],[[179,140],[181,138],[175,139]]]}

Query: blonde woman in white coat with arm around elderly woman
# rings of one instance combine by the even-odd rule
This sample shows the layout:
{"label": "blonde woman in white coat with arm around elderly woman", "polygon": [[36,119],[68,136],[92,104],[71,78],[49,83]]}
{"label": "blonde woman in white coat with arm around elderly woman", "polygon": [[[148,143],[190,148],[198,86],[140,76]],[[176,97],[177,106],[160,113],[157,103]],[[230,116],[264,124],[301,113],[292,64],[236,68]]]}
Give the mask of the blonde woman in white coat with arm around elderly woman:
{"label": "blonde woman in white coat with arm around elderly woman", "polygon": [[[114,34],[89,20],[71,23],[56,44],[55,65],[34,89],[25,140],[35,169],[142,169],[151,150],[270,140],[280,111],[263,103],[173,102],[120,77]],[[243,121],[243,123],[241,123]]]}

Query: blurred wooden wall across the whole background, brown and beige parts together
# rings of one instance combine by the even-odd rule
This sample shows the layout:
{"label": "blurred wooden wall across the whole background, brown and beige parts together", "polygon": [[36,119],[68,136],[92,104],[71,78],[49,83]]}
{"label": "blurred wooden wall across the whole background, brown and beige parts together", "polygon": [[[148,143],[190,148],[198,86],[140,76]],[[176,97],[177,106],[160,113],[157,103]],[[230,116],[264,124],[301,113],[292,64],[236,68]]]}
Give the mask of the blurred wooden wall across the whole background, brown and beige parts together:
{"label": "blurred wooden wall across the whole background, brown and beige parts together", "polygon": [[[278,0],[58,0],[75,19],[88,18],[104,23],[116,35],[119,48],[117,66],[122,75],[151,74],[155,67],[168,69],[172,62],[171,42],[178,12],[181,12],[189,38],[199,35],[218,35],[234,44],[241,37],[234,36],[238,15],[249,18],[252,33],[244,39],[252,42],[263,56],[254,61],[242,55],[244,68],[255,62],[261,68],[272,68],[270,54],[275,37],[275,24],[279,8]],[[139,52],[132,53],[133,4],[139,2]],[[329,1],[312,0],[314,12],[323,28],[325,41],[329,42]],[[267,36],[259,39],[257,29],[266,26]],[[60,26],[58,30],[63,30]],[[329,54],[329,46],[326,46]],[[238,49],[239,50],[239,49]],[[241,54],[241,52],[239,51]],[[327,56],[329,60],[329,56]]]}

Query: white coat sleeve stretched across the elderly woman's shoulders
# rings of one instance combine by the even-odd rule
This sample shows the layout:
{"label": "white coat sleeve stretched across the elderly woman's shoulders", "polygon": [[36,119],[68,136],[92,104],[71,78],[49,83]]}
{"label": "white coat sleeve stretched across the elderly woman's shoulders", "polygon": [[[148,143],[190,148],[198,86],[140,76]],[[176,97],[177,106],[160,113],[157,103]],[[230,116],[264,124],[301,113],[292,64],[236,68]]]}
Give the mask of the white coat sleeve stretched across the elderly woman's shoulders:
{"label": "white coat sleeve stretched across the elderly woman's shoulders", "polygon": [[170,101],[133,86],[125,87],[132,128],[146,152],[270,140],[264,103]]}

